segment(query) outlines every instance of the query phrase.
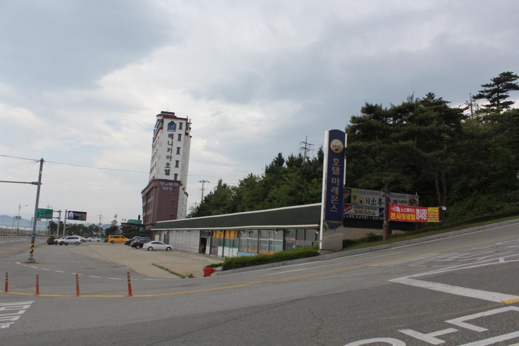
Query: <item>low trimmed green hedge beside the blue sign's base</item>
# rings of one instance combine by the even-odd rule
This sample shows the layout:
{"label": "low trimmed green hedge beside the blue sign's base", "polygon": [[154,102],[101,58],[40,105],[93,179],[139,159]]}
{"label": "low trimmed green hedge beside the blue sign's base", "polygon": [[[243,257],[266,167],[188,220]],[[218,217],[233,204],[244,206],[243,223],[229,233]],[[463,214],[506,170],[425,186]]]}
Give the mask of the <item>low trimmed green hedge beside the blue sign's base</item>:
{"label": "low trimmed green hedge beside the blue sign's base", "polygon": [[319,256],[317,246],[294,248],[292,250],[277,252],[272,255],[230,257],[226,258],[222,263],[222,270],[259,266],[267,263],[282,262],[313,256]]}

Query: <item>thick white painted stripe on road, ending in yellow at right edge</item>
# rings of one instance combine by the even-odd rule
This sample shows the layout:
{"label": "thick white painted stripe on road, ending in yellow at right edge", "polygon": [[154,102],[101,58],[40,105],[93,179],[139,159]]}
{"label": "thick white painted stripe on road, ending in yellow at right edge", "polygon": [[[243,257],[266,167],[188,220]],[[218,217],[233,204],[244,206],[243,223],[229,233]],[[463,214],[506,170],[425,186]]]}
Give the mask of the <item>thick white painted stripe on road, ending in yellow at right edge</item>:
{"label": "thick white painted stripe on road, ending in yellow at right edge", "polygon": [[398,283],[401,283],[404,285],[432,289],[432,290],[436,290],[439,292],[455,294],[458,296],[495,301],[495,302],[499,302],[499,303],[506,301],[506,300],[519,299],[519,296],[513,296],[513,295],[502,294],[502,293],[497,293],[497,292],[489,292],[489,291],[480,290],[480,289],[472,289],[472,288],[465,288],[465,287],[460,287],[460,286],[441,284],[441,283],[437,283],[437,282],[409,279],[409,277],[392,279],[389,281],[398,282]]}

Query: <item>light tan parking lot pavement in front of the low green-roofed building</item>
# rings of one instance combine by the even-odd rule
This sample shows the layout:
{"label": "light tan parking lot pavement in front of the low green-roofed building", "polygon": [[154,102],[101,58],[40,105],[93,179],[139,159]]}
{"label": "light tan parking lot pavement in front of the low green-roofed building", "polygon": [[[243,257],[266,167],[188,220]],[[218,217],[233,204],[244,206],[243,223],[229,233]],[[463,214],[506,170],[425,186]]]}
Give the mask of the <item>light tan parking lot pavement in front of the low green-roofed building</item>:
{"label": "light tan parking lot pavement in front of the low green-roofed building", "polygon": [[[85,246],[86,245],[86,246]],[[202,254],[190,254],[182,251],[146,251],[136,250],[124,244],[85,243],[69,246],[71,251],[125,266],[152,278],[180,278],[179,275],[193,274],[195,278],[203,276],[203,267],[222,259]],[[175,272],[174,275],[152,264]]]}

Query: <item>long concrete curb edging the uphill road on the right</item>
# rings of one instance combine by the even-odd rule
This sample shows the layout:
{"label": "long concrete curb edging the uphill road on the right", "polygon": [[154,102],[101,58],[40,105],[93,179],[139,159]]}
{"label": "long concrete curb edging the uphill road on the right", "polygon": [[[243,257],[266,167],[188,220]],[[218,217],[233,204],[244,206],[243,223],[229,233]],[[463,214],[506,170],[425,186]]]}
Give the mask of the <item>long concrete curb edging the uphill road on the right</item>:
{"label": "long concrete curb edging the uphill road on the right", "polygon": [[416,239],[411,239],[411,240],[404,240],[404,241],[401,241],[401,242],[395,242],[395,243],[391,243],[391,244],[384,244],[384,245],[378,245],[378,246],[372,246],[372,247],[359,248],[357,250],[334,252],[334,253],[331,253],[331,254],[320,255],[320,256],[315,256],[315,257],[299,258],[299,259],[293,259],[293,260],[284,261],[284,262],[268,263],[268,264],[260,265],[260,266],[243,267],[243,268],[238,268],[238,269],[230,269],[230,270],[226,270],[226,271],[219,271],[219,272],[217,272],[217,275],[227,275],[227,274],[233,274],[233,273],[242,273],[242,272],[245,272],[245,271],[252,271],[252,270],[265,269],[265,268],[281,267],[281,266],[297,264],[297,263],[304,263],[304,262],[324,261],[324,260],[329,260],[329,259],[332,259],[332,258],[346,257],[346,256],[351,256],[351,255],[357,255],[357,254],[365,254],[365,253],[372,252],[372,251],[380,251],[380,250],[385,250],[387,248],[400,247],[400,246],[411,245],[411,244],[418,244],[418,243],[424,243],[424,242],[427,242],[427,241],[430,241],[430,240],[436,240],[436,239],[448,238],[448,237],[453,237],[453,236],[459,236],[460,234],[471,233],[471,232],[481,231],[481,230],[485,230],[485,229],[490,229],[490,228],[495,228],[495,227],[500,227],[500,226],[514,225],[514,224],[519,224],[519,219],[507,220],[507,221],[502,221],[502,222],[498,222],[498,223],[495,223],[495,224],[488,224],[488,225],[483,225],[483,226],[471,227],[471,228],[467,228],[467,229],[460,229],[460,230],[457,230],[457,231],[446,232],[446,233],[441,233],[441,234],[435,234],[434,236],[429,236],[429,237],[416,238]]}

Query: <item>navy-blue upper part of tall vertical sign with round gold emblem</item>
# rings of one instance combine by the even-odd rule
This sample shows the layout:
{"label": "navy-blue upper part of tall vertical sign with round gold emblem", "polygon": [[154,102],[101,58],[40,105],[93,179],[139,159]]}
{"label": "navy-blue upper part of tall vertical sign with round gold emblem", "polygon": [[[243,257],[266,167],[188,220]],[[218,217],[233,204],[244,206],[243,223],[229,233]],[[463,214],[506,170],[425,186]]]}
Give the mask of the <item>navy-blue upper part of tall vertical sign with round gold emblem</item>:
{"label": "navy-blue upper part of tall vertical sign with round gold emblem", "polygon": [[343,225],[346,133],[340,130],[326,131],[325,143],[322,230]]}

